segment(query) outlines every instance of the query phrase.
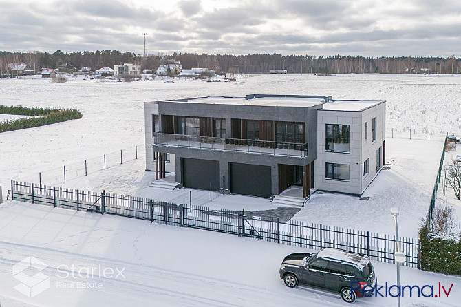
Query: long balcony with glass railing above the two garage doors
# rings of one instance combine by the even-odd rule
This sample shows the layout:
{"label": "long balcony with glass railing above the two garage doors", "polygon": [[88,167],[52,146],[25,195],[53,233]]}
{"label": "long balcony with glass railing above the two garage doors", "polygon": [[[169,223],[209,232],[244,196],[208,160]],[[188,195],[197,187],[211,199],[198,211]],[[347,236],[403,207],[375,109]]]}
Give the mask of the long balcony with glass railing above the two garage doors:
{"label": "long balcony with glass railing above the two garage doors", "polygon": [[239,138],[213,138],[210,136],[187,136],[184,134],[154,134],[157,147],[182,147],[216,151],[233,151],[270,156],[303,158],[308,156],[308,144],[275,142],[270,140],[243,140]]}

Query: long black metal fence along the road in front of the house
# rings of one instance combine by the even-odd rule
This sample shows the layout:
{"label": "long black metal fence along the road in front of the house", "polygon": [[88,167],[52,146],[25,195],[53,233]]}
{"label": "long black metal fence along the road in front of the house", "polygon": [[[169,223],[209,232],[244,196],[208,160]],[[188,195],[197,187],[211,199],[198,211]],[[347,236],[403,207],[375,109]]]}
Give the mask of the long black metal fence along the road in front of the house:
{"label": "long black metal fence along the road in front of the house", "polygon": [[[343,248],[367,255],[372,260],[394,263],[396,239],[393,235],[306,222],[282,222],[277,218],[248,215],[245,211],[171,204],[104,191],[97,193],[26,182],[12,181],[11,191],[12,200],[218,231],[305,248]],[[400,247],[407,256],[405,265],[419,268],[418,240],[400,237]]]}

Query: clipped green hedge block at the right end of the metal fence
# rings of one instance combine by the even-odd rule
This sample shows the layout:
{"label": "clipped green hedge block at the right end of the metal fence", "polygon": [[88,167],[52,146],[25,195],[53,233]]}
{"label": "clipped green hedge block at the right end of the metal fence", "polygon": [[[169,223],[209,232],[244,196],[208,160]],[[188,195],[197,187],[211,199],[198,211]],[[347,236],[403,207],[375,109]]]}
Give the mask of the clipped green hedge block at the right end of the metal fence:
{"label": "clipped green hedge block at the right end of the metal fence", "polygon": [[420,264],[422,270],[461,275],[461,242],[442,239],[420,229]]}

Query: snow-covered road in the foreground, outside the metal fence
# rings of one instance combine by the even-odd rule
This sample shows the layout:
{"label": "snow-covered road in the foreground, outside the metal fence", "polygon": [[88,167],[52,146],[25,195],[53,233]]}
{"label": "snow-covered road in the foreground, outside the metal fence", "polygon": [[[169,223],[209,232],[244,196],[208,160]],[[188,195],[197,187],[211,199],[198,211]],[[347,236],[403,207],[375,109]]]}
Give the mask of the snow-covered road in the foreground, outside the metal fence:
{"label": "snow-covered road in the foreground, outside the metal fence", "polygon": [[[347,305],[336,293],[283,284],[281,260],[308,251],[303,248],[21,202],[0,205],[0,233],[5,307]],[[34,297],[13,288],[20,282],[12,266],[30,256],[47,266],[41,273],[50,278],[50,288]],[[395,284],[394,265],[373,264],[378,284]],[[406,267],[400,273],[401,284],[433,285],[435,295],[438,282],[447,290],[453,284],[449,297],[404,297],[402,306],[459,306],[458,277]],[[396,306],[396,299],[358,299],[356,305]]]}

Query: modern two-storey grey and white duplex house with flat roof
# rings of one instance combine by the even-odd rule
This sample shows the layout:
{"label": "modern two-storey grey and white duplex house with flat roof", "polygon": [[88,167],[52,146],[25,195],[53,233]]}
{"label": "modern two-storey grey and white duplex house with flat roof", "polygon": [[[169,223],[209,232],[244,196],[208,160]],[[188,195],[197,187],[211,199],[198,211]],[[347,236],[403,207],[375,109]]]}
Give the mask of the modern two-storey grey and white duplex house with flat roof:
{"label": "modern two-storey grey and white duplex house with flat roof", "polygon": [[200,97],[144,103],[146,169],[184,187],[270,198],[290,186],[360,195],[383,165],[385,101]]}

